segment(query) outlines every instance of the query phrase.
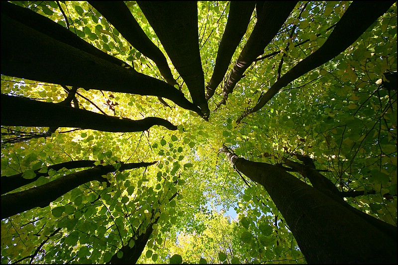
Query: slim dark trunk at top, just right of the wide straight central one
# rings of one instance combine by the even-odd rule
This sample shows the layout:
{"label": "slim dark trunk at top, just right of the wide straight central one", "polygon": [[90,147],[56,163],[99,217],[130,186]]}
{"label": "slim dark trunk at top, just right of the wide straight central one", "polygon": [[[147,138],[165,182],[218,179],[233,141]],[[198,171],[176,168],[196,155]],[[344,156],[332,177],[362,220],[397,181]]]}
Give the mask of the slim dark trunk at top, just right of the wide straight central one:
{"label": "slim dark trunk at top, just right of the wide straight central one", "polygon": [[215,89],[224,78],[231,63],[232,55],[246,33],[255,3],[254,1],[229,2],[228,21],[218,47],[213,75],[206,87],[206,100],[214,95]]}

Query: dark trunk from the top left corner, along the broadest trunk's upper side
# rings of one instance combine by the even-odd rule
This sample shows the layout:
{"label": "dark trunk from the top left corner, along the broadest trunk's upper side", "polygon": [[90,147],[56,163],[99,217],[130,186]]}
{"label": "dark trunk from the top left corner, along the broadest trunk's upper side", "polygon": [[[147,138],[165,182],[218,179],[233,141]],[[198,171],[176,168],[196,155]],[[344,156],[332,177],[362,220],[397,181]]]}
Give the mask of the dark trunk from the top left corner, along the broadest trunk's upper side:
{"label": "dark trunk from the top left corner, along the broadest trunk's upper side", "polygon": [[[128,66],[128,64],[123,62],[122,60],[119,60],[116,57],[104,53],[100,49],[97,49],[90,43],[79,38],[69,29],[64,28],[60,24],[55,23],[50,18],[36,13],[29,8],[23,8],[7,1],[1,1],[1,13],[11,17],[12,19],[17,20],[25,26],[40,31],[43,34],[65,44],[68,44],[76,49],[87,52],[93,56],[99,57],[117,66],[121,66],[122,64]],[[134,69],[131,68],[131,70]]]}

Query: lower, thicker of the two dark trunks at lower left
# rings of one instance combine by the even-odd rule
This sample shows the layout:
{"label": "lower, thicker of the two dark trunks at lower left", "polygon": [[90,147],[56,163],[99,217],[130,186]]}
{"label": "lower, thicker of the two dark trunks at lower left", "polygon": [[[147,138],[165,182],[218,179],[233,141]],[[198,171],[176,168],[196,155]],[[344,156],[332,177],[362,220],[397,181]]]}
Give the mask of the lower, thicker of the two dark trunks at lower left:
{"label": "lower, thicker of the two dark trunks at lower left", "polygon": [[[155,164],[138,163],[139,167],[148,167]],[[122,164],[119,171],[137,168],[137,163]],[[18,214],[35,207],[44,208],[58,197],[64,195],[72,189],[94,180],[100,182],[107,181],[102,175],[116,171],[113,165],[97,166],[93,169],[79,171],[63,177],[59,177],[53,181],[38,187],[15,193],[8,193],[1,196],[1,219],[8,218],[14,214]]]}

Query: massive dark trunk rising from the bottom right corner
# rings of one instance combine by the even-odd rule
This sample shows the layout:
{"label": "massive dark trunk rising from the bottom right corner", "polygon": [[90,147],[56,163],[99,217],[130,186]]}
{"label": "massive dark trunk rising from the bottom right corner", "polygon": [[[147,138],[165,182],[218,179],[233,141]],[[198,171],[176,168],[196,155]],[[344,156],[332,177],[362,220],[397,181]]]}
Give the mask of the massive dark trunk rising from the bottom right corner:
{"label": "massive dark trunk rising from the bottom right corner", "polygon": [[280,167],[222,151],[265,187],[308,263],[397,263],[397,241],[340,203]]}

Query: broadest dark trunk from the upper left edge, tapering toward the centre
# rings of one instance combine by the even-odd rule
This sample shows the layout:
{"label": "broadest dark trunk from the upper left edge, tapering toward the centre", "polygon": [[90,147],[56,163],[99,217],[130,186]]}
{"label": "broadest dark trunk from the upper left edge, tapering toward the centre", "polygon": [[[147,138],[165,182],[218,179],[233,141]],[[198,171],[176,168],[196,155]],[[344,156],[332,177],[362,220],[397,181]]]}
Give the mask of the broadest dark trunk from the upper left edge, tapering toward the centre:
{"label": "broadest dark trunk from the upper left edge, tapering toward the centre", "polygon": [[1,15],[1,74],[85,89],[161,96],[201,115],[177,88],[57,41],[5,14]]}

